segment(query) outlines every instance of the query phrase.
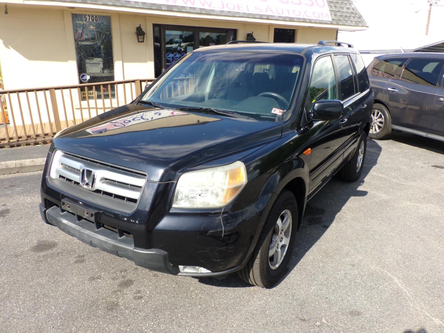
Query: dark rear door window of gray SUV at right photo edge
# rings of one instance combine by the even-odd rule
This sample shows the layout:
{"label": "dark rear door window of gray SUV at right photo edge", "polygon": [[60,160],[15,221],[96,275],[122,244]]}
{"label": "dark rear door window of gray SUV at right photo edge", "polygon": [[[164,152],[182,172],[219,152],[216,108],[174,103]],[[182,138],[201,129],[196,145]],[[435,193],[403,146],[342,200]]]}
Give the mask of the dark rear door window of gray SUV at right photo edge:
{"label": "dark rear door window of gray SUV at right photo edge", "polygon": [[443,61],[437,59],[412,59],[402,71],[401,79],[425,86],[436,86],[443,68]]}

